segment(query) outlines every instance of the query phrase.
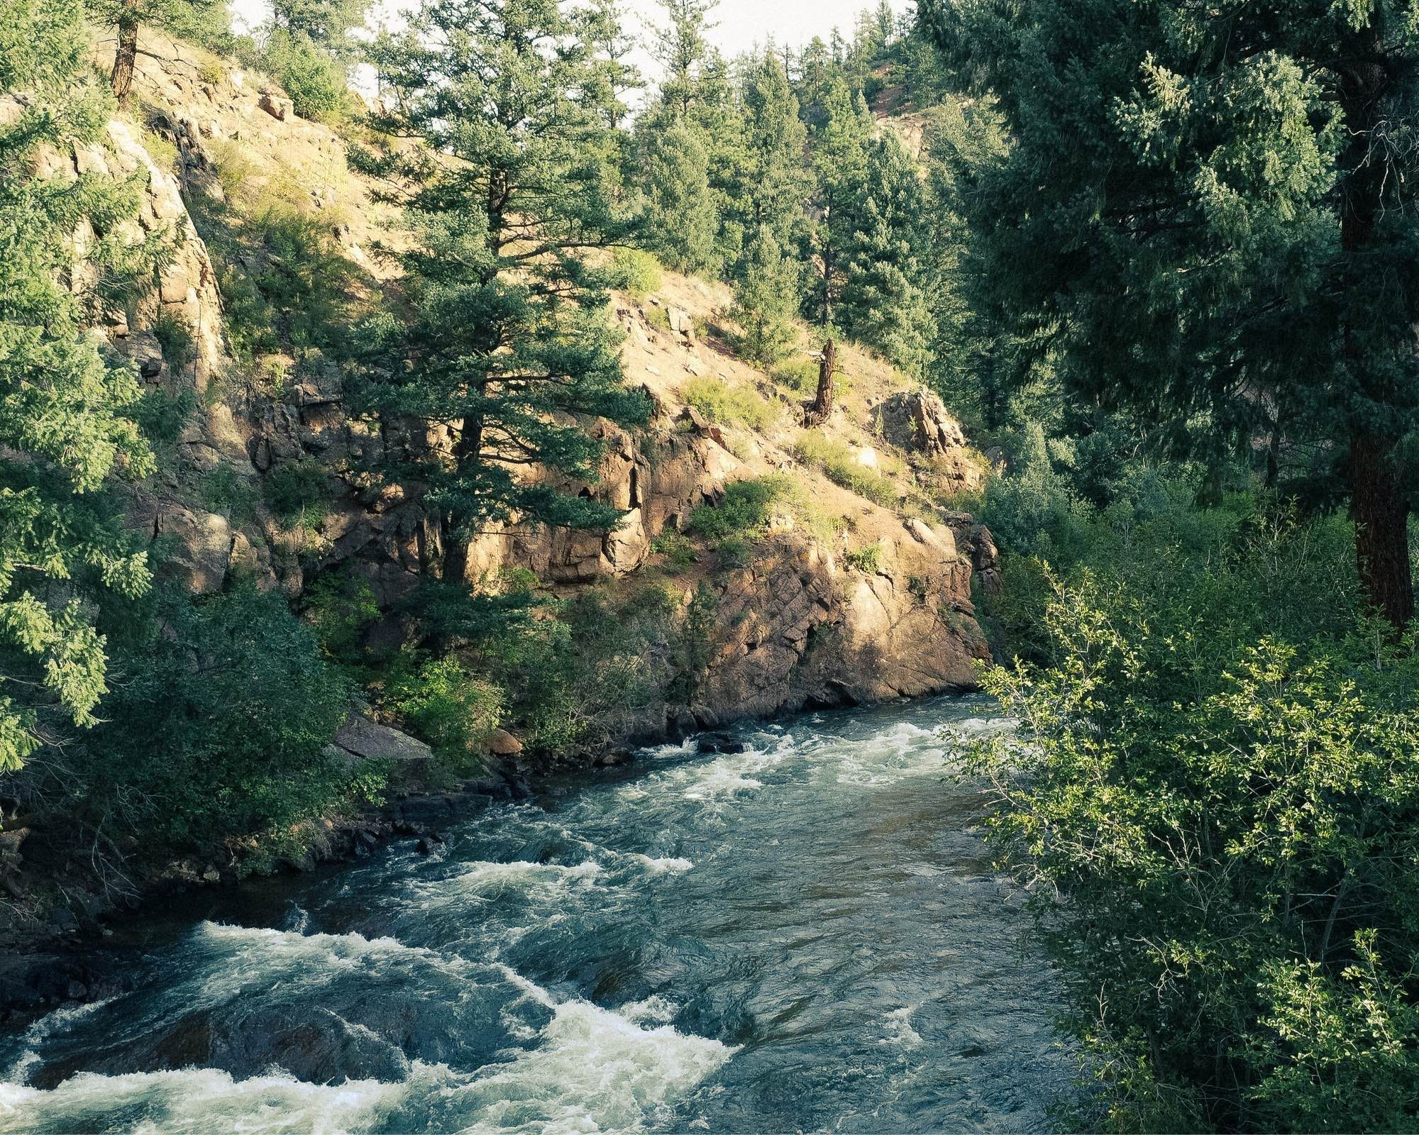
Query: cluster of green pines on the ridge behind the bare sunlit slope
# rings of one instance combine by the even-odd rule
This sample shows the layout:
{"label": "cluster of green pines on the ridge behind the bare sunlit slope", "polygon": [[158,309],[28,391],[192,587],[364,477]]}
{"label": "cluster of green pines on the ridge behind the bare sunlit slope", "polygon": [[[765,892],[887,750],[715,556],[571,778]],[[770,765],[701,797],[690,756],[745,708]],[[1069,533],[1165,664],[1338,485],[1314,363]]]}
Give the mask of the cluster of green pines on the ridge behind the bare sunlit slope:
{"label": "cluster of green pines on the ridge behind the bare sunlit slope", "polygon": [[656,35],[664,79],[627,155],[644,245],[732,284],[756,362],[779,362],[803,318],[925,373],[941,287],[931,186],[867,101],[911,23],[883,3],[850,44],[834,33],[727,61],[705,35],[714,9],[668,0]]}

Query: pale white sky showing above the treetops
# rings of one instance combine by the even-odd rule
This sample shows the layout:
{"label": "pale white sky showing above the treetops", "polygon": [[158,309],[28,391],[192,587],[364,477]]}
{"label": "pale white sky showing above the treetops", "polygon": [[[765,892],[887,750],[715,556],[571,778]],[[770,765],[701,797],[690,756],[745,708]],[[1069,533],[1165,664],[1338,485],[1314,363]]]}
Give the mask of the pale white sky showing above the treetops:
{"label": "pale white sky showing above the treetops", "polygon": [[[383,6],[400,9],[406,4],[385,0]],[[663,14],[656,0],[624,0],[624,6],[641,28],[646,17],[658,23]],[[891,6],[904,11],[908,0],[891,0]],[[864,7],[876,9],[877,0],[719,0],[712,17],[717,27],[710,40],[727,55],[736,55],[769,38],[799,48],[815,35],[826,40],[833,27],[850,40],[857,13]],[[265,0],[231,0],[231,11],[234,23],[253,27],[265,18]],[[637,64],[647,75],[654,75],[648,57],[641,54]]]}

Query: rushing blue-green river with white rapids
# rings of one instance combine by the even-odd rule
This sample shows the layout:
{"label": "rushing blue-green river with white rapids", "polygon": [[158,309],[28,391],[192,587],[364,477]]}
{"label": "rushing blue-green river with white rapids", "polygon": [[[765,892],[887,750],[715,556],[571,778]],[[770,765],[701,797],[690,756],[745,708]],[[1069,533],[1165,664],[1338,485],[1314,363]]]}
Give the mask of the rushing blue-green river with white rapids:
{"label": "rushing blue-green river with white rapids", "polygon": [[136,989],[0,1036],[0,1132],[1042,1129],[1049,975],[944,779],[989,712],[651,749],[200,898]]}

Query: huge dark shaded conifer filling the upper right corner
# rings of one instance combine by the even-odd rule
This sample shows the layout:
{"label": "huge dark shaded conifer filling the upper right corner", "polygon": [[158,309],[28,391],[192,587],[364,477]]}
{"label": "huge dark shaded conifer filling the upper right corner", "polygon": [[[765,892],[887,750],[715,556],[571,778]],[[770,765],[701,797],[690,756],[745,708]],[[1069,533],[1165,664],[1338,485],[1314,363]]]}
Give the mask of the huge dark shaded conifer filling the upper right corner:
{"label": "huge dark shaded conifer filling the upper right corner", "polygon": [[1181,3],[932,0],[922,16],[989,84],[1013,139],[964,170],[992,312],[1049,352],[1073,397],[1179,441],[1205,413],[1242,453],[1261,433],[1320,443],[1364,586],[1406,623],[1410,6],[1223,18]]}

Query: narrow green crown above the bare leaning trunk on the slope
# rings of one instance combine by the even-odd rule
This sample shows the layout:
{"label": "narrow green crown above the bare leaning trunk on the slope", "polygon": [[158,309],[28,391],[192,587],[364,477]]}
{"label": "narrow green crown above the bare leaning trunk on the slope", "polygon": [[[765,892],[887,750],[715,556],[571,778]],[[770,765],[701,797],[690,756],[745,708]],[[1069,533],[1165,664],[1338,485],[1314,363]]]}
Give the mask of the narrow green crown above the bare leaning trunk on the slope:
{"label": "narrow green crown above the bare leaning trunk on the slope", "polygon": [[867,150],[873,115],[861,91],[834,75],[823,99],[823,126],[813,133],[813,255],[817,279],[809,297],[810,318],[832,326],[843,288],[846,255],[867,196]]}

